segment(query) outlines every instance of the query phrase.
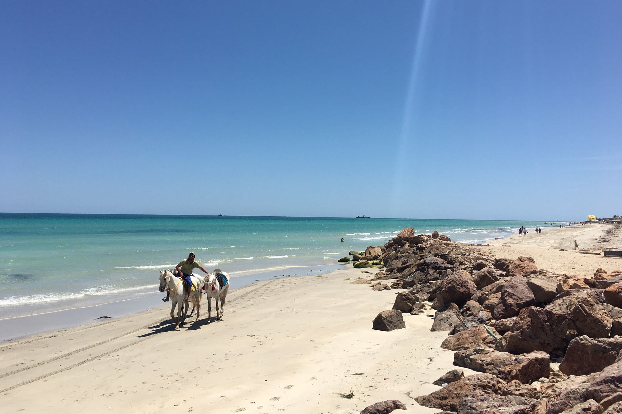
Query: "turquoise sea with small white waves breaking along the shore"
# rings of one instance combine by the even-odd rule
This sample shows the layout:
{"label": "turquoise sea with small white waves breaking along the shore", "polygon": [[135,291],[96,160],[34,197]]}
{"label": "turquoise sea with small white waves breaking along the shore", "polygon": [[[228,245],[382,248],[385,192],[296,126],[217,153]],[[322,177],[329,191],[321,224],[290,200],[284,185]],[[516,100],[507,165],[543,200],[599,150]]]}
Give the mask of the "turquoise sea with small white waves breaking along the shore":
{"label": "turquoise sea with small white waves breaking along the shore", "polygon": [[[559,223],[557,223],[559,224]],[[188,252],[233,277],[328,266],[404,227],[482,243],[553,223],[392,218],[0,214],[3,318],[152,295]],[[341,238],[345,241],[341,242]],[[297,273],[302,274],[302,273]],[[158,303],[154,303],[156,306]],[[160,302],[161,304],[161,302]]]}

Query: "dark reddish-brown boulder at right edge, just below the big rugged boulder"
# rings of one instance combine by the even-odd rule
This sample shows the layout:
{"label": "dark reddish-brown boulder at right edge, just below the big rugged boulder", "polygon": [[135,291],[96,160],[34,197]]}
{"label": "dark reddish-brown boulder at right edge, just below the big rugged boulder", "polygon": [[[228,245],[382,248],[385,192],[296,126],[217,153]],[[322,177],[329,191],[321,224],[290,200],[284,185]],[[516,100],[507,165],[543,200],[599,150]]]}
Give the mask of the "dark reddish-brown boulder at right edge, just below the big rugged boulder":
{"label": "dark reddish-brown boulder at right edge, just below the big rugged boulder", "polygon": [[579,336],[570,341],[559,370],[566,375],[587,375],[602,371],[618,358],[622,338],[590,338]]}

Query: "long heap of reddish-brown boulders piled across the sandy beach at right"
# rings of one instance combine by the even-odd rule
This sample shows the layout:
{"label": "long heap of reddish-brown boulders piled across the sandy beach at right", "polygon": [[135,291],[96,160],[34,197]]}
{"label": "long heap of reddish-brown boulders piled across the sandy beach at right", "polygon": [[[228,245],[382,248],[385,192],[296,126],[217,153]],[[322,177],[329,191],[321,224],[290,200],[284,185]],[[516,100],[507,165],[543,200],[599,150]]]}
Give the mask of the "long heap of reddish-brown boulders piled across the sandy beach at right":
{"label": "long heap of reddish-brown boulders piled across the sandy beach at right", "polygon": [[556,274],[532,258],[495,258],[412,228],[361,253],[355,265],[380,269],[355,283],[400,289],[399,312],[434,308],[431,330],[448,332],[441,347],[455,351],[454,365],[481,372],[446,374],[435,382],[442,388],[415,398],[420,405],[453,413],[622,413],[622,271]]}

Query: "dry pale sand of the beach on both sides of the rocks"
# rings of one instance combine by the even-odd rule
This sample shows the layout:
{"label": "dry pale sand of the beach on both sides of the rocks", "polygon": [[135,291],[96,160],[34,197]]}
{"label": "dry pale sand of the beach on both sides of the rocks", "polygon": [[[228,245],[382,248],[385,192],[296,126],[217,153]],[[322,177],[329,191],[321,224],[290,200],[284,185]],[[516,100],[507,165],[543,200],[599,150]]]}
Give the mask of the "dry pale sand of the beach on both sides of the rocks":
{"label": "dry pale sand of the beach on both sides of the rocks", "polygon": [[[622,259],[567,250],[568,241],[620,248],[619,234],[602,240],[609,228],[549,229],[472,248],[593,274],[622,268]],[[25,413],[358,413],[398,399],[416,412],[438,412],[412,398],[439,389],[431,383],[455,368],[453,352],[439,347],[447,332],[430,332],[434,310],[404,313],[406,329],[372,330],[400,289],[350,283],[369,275],[347,266],[234,289],[222,322],[207,323],[204,302],[202,318],[181,331],[173,330],[169,306],[160,306],[2,343],[0,402],[5,412]],[[350,392],[351,399],[339,395]]]}

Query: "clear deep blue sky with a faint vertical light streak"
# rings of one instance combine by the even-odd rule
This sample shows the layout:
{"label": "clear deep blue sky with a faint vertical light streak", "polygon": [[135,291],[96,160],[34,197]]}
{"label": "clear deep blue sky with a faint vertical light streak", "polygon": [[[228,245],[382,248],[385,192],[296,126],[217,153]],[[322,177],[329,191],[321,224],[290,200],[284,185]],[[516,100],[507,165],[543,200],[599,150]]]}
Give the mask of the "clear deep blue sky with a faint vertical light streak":
{"label": "clear deep blue sky with a faint vertical light streak", "polygon": [[622,2],[0,2],[0,211],[621,214]]}

